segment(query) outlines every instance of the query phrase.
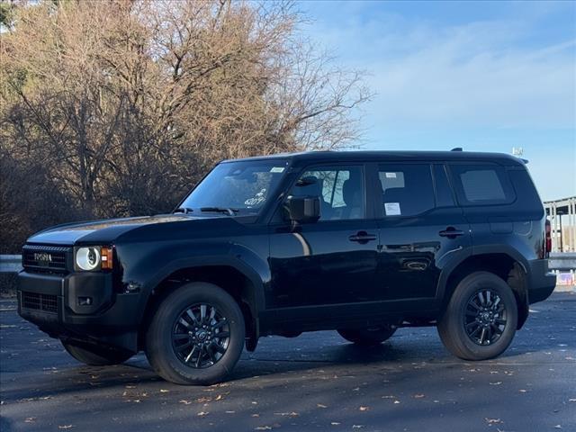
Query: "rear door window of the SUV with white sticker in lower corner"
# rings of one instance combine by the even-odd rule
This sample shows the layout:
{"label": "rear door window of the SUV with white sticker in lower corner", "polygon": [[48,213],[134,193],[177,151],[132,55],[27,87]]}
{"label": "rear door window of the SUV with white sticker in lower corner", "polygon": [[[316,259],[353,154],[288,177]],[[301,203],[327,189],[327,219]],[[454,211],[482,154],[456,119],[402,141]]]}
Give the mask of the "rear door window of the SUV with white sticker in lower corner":
{"label": "rear door window of the SUV with white sticker in lower corner", "polygon": [[388,165],[378,169],[383,217],[415,216],[435,206],[428,164]]}

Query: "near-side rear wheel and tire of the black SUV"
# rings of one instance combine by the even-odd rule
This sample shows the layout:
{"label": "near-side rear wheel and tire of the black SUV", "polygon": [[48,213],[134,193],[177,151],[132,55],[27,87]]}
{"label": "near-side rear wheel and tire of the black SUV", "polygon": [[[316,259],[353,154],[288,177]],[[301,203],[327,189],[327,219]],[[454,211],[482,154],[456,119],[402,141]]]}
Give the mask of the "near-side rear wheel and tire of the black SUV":
{"label": "near-side rear wheel and tire of the black SUV", "polygon": [[518,304],[509,285],[497,275],[476,272],[456,286],[437,329],[455,356],[487,360],[506,351],[517,326]]}

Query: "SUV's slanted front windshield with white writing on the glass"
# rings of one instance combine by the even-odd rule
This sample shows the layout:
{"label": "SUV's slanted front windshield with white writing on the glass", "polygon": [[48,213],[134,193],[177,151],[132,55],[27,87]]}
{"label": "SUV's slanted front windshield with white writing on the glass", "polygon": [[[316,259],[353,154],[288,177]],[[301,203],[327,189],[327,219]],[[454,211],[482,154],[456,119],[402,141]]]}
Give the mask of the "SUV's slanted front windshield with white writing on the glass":
{"label": "SUV's slanted front windshield with white writing on the glass", "polygon": [[285,159],[226,162],[216,166],[180,204],[181,209],[257,214],[284,176]]}

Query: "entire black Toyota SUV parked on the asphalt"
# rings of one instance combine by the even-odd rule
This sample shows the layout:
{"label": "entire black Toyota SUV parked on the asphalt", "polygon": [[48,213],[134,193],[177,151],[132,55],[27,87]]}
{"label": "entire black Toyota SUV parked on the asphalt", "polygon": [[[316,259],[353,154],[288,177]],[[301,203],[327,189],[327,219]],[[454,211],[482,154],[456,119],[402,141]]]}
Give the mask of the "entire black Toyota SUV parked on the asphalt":
{"label": "entire black Toyota SUV parked on the asphalt", "polygon": [[174,383],[215,383],[266,335],[358,345],[437,326],[499,356],[554,290],[525,161],[309,152],[221,162],[172,214],[73,223],[23,247],[20,315],[88,365],[140,350]]}

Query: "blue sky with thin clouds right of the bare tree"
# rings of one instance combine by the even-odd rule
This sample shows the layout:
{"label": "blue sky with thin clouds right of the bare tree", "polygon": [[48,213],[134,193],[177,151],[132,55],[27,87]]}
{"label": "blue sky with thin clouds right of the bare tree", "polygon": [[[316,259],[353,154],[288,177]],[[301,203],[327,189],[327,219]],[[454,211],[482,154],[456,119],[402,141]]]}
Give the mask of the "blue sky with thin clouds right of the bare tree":
{"label": "blue sky with thin clouds right of the bare tree", "polygon": [[576,2],[297,7],[313,42],[368,74],[364,148],[521,147],[544,200],[576,194]]}

